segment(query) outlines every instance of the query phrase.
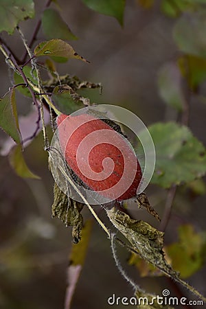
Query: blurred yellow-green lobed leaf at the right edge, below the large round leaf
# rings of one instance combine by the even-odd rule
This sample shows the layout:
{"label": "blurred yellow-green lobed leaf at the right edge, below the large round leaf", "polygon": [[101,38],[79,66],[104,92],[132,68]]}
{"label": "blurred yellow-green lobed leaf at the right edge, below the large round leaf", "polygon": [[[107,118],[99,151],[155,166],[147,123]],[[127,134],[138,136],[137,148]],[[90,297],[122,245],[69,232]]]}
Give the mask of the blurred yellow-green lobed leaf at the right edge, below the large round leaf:
{"label": "blurred yellow-green lobed leaf at the right edge, below the large round leaf", "polygon": [[170,244],[166,251],[172,266],[187,278],[196,273],[205,261],[206,233],[196,233],[192,225],[179,227],[179,242]]}

